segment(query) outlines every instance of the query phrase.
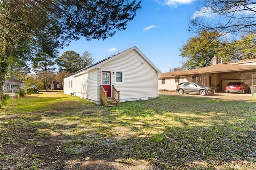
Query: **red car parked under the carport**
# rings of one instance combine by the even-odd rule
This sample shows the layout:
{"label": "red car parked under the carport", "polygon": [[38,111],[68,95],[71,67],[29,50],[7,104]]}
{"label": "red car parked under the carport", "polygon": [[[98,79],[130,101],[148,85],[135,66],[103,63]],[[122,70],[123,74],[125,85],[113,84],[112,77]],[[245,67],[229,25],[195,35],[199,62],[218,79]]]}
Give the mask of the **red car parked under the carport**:
{"label": "red car parked under the carport", "polygon": [[235,92],[244,94],[244,92],[249,93],[250,87],[244,82],[230,82],[226,85],[226,93]]}

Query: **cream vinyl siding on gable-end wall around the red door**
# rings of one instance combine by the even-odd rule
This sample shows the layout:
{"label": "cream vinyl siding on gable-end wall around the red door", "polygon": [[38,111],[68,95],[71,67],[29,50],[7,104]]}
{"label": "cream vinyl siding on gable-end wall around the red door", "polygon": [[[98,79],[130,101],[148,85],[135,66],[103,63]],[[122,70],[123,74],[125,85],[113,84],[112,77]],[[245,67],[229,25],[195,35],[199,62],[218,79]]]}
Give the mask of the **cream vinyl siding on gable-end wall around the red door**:
{"label": "cream vinyl siding on gable-end wall around the red door", "polygon": [[[135,50],[125,53],[101,67],[102,70],[124,71],[125,82],[114,84],[120,91],[121,100],[158,97],[158,73]],[[113,80],[112,78],[112,82]]]}

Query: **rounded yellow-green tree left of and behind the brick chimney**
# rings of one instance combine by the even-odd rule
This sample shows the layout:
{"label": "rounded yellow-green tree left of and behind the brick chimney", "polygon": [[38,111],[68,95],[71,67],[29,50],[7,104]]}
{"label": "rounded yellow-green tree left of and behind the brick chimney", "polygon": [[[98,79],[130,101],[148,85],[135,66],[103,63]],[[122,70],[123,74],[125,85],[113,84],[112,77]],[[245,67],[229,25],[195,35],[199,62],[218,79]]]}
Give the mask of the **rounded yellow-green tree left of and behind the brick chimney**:
{"label": "rounded yellow-green tree left of and behind the brick chimney", "polygon": [[180,48],[182,58],[187,58],[182,64],[183,69],[198,69],[211,65],[212,57],[218,56],[222,43],[218,40],[218,32],[202,30],[201,34],[190,38]]}

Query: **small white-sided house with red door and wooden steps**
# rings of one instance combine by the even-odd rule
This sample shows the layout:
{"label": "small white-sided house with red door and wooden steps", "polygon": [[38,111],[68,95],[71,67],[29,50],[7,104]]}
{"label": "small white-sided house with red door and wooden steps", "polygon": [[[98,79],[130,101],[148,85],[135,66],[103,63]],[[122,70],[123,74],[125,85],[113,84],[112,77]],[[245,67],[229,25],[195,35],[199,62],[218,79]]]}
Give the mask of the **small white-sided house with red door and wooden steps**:
{"label": "small white-sided house with red door and wooden steps", "polygon": [[145,100],[158,97],[160,71],[137,47],[112,55],[64,79],[64,94],[96,104]]}

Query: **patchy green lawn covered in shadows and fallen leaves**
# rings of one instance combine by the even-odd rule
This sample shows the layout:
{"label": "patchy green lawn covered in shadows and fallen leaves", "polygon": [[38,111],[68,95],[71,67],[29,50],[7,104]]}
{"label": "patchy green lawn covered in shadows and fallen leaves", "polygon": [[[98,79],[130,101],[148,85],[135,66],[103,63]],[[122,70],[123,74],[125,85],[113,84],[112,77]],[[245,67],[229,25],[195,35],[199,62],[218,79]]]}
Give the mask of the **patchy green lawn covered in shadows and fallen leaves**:
{"label": "patchy green lawn covered in shadows and fallen leaves", "polygon": [[103,107],[45,92],[0,111],[0,168],[256,169],[255,98],[160,96]]}

